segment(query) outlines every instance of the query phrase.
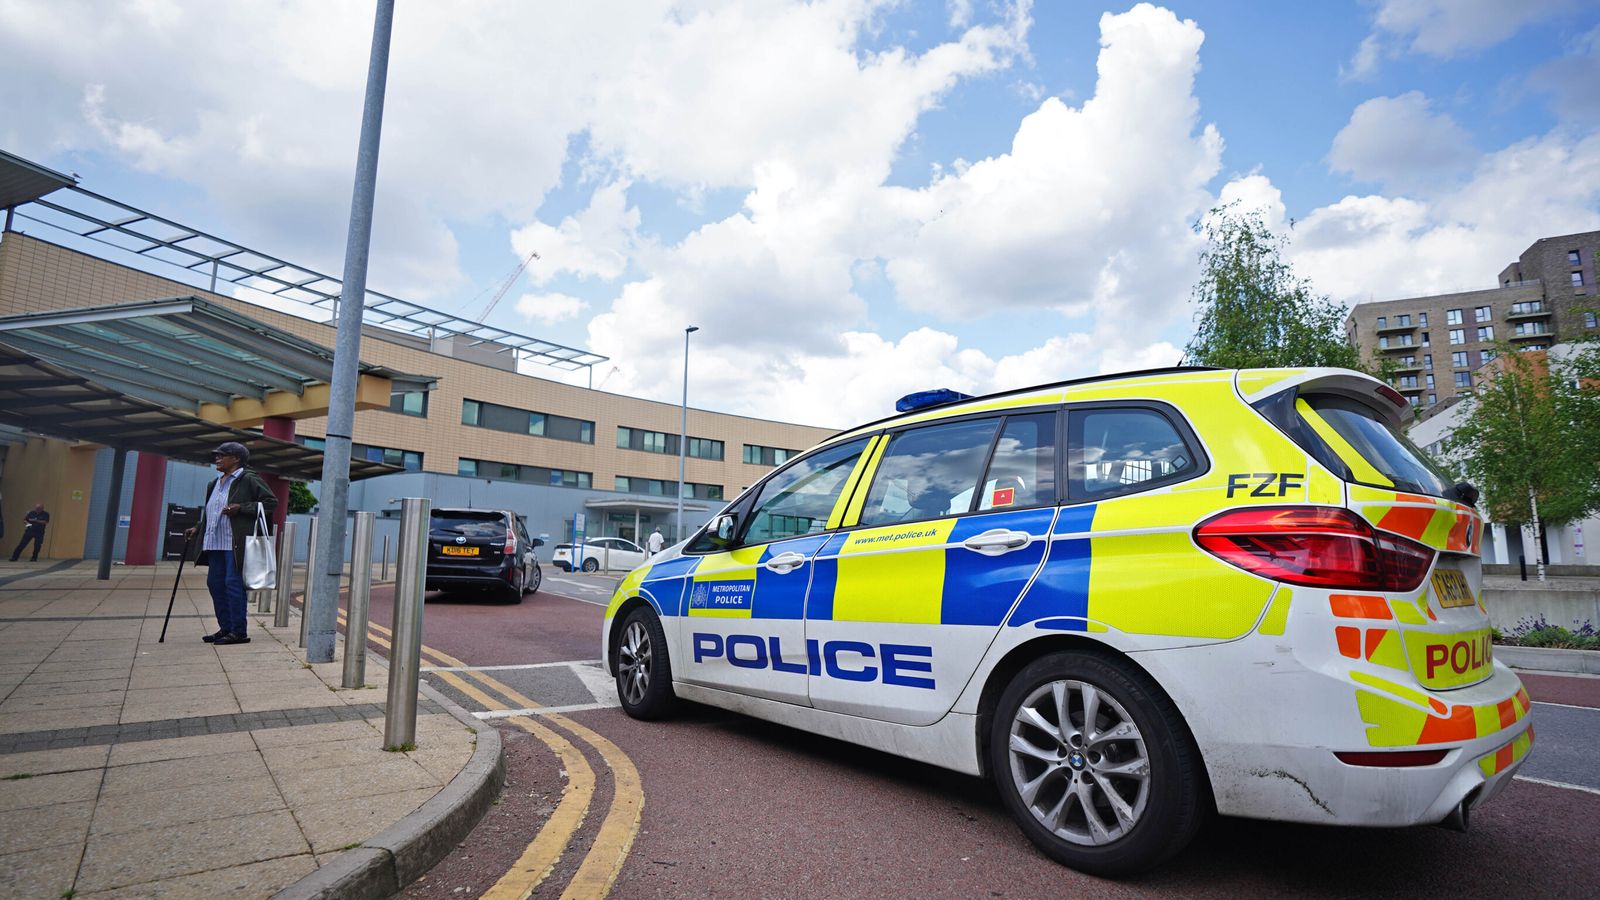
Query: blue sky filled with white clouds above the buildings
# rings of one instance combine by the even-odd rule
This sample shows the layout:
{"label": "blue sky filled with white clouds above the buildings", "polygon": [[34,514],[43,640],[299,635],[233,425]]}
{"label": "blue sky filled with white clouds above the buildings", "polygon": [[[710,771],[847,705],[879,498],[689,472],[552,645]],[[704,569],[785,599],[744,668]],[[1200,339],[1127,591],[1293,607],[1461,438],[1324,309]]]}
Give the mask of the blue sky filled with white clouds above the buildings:
{"label": "blue sky filled with white clouds above the buildings", "polygon": [[[366,3],[0,3],[0,147],[341,269]],[[1582,0],[402,3],[370,283],[611,357],[608,391],[843,426],[1173,364],[1194,223],[1336,299],[1600,227]],[[43,234],[50,237],[50,234]]]}

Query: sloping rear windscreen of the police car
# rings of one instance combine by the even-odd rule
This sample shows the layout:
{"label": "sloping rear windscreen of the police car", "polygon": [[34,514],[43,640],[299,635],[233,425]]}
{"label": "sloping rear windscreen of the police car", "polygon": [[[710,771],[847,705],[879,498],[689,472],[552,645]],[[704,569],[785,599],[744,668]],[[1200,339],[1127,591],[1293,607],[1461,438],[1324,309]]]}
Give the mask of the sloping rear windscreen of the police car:
{"label": "sloping rear windscreen of the police car", "polygon": [[1312,431],[1350,468],[1352,480],[1432,496],[1445,496],[1450,490],[1450,476],[1365,404],[1333,394],[1309,394],[1296,407]]}

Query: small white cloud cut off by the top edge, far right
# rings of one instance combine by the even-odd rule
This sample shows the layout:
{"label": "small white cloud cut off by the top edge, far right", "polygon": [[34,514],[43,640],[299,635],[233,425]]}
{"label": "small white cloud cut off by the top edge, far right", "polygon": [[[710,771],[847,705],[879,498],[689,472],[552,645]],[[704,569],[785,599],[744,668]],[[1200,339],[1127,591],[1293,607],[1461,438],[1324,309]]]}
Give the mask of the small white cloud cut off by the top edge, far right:
{"label": "small white cloud cut off by the top edge, far right", "polygon": [[1382,0],[1374,26],[1410,40],[1416,53],[1448,59],[1493,46],[1573,6],[1573,0]]}

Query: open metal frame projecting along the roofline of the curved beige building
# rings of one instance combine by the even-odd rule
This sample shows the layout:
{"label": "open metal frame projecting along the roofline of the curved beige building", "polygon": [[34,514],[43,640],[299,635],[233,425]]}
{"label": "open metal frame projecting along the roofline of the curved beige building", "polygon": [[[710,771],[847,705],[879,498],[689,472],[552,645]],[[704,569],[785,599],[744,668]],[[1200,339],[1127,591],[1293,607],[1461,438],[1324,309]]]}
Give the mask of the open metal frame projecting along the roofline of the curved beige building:
{"label": "open metal frame projecting along the roofline of the curved beige building", "polygon": [[[40,181],[43,171],[54,179]],[[21,157],[0,151],[0,187],[11,179],[34,178],[27,191],[13,195],[11,213],[19,219],[54,227],[67,234],[106,243],[128,253],[158,259],[192,272],[210,274],[211,290],[218,282],[240,285],[272,296],[326,309],[338,319],[342,282],[306,266],[261,253],[227,239],[147,213],[93,191],[78,187],[59,173],[43,170]],[[21,181],[19,181],[21,183]],[[46,200],[45,194],[51,194]],[[3,194],[0,194],[3,195]],[[451,312],[430,309],[387,293],[366,291],[363,322],[414,338],[432,341],[438,336],[461,338],[469,348],[488,344],[488,351],[512,354],[518,362],[547,365],[558,370],[589,368],[610,357],[528,335],[518,335]]]}

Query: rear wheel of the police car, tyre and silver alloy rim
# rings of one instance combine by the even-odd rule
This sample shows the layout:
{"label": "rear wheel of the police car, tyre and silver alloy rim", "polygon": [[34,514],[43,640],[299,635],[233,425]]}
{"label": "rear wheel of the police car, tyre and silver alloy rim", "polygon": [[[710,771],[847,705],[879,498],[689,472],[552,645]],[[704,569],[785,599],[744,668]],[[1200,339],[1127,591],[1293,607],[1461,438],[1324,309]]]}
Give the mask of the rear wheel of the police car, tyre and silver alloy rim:
{"label": "rear wheel of the police car, tyre and silver alloy rim", "polygon": [[1205,817],[1205,773],[1182,716],[1110,655],[1061,652],[1022,668],[994,711],[989,770],[1022,833],[1088,874],[1154,868]]}

